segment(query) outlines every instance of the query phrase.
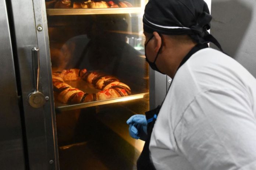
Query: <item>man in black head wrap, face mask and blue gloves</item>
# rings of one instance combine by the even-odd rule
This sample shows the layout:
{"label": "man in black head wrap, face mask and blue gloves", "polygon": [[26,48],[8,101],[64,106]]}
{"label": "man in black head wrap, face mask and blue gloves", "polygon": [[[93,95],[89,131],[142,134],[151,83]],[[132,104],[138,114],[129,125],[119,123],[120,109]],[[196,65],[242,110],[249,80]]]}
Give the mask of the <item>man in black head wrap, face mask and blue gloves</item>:
{"label": "man in black head wrap, face mask and blue gloves", "polygon": [[138,170],[256,170],[256,80],[208,48],[222,51],[210,21],[203,0],[146,5],[147,62],[173,81],[161,108],[127,121],[130,135],[146,141]]}

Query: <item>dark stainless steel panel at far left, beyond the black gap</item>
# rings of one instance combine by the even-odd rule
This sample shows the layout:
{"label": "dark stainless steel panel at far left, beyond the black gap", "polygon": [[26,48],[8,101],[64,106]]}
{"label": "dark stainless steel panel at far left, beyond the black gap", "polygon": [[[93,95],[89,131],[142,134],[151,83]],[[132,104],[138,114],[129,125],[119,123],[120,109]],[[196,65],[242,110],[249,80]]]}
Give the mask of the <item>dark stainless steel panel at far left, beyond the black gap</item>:
{"label": "dark stainless steel panel at far left, beyond the black gap", "polygon": [[0,168],[25,169],[21,117],[5,0],[0,0]]}

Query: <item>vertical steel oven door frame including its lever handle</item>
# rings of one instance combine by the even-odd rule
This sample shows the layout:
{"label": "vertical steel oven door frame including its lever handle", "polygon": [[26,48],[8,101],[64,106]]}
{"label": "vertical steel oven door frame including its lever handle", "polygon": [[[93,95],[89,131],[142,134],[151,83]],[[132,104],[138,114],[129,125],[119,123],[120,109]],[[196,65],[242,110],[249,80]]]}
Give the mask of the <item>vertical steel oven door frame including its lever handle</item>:
{"label": "vertical steel oven door frame including its lever handle", "polygon": [[38,42],[45,37],[44,18],[41,17],[44,8],[39,0],[7,2],[28,167],[36,170],[59,169],[51,66],[46,57],[49,56],[49,48],[46,47],[47,42]]}

